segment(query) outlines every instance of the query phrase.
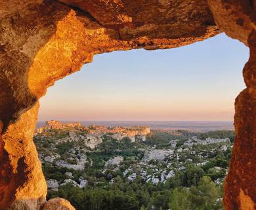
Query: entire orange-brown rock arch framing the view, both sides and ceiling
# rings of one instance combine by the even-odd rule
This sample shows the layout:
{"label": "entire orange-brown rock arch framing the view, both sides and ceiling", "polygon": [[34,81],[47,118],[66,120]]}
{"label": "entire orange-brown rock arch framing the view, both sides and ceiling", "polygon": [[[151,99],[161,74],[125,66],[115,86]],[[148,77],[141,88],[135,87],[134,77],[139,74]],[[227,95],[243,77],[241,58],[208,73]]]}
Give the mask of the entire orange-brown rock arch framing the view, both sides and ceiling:
{"label": "entire orange-brown rock arch framing the view, both sides and ceiling", "polygon": [[[255,209],[255,1],[243,0],[2,0],[1,209],[39,209],[45,202],[47,184],[32,137],[37,100],[47,87],[91,62],[94,54],[181,47],[219,33],[215,22],[251,49],[244,69],[247,89],[236,100],[237,137],[224,205]],[[58,199],[43,209],[62,204],[72,209]]]}

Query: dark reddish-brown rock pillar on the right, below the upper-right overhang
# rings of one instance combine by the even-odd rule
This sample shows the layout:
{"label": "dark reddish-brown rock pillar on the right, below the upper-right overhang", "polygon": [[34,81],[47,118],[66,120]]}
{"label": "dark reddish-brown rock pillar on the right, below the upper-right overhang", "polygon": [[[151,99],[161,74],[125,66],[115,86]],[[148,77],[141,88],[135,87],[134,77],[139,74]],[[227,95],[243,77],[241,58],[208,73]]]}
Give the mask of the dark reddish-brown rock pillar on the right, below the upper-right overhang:
{"label": "dark reddish-brown rock pillar on the right, below the upper-right overhang", "polygon": [[250,58],[244,68],[247,88],[236,98],[236,140],[230,170],[226,177],[226,209],[256,209],[256,32],[250,35]]}

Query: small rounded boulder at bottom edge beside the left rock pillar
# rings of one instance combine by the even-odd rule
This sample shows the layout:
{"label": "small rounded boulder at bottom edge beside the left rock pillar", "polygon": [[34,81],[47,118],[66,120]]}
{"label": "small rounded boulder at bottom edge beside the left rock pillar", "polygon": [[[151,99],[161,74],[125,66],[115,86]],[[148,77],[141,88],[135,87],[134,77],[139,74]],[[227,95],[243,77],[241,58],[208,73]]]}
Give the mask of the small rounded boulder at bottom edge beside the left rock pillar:
{"label": "small rounded boulder at bottom edge beside the left rock pillar", "polygon": [[75,210],[75,208],[63,198],[53,198],[47,201],[41,210]]}

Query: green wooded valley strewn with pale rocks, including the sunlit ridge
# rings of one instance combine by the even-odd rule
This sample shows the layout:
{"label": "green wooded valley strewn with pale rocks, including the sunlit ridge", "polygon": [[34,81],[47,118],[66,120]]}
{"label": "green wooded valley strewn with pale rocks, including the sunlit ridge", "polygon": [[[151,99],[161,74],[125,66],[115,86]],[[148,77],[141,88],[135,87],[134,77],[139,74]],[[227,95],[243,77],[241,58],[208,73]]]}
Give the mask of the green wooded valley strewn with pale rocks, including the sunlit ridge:
{"label": "green wooded valley strewn with pale rocks, including the sunlit ridge", "polygon": [[222,209],[234,131],[48,121],[34,141],[47,197],[76,209]]}

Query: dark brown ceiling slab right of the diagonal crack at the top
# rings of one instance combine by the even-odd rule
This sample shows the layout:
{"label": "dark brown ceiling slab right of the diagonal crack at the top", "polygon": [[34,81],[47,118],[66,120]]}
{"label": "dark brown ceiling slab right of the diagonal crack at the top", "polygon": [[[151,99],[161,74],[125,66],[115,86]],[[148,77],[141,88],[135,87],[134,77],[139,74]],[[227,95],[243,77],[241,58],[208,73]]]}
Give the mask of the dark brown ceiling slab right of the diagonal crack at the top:
{"label": "dark brown ceiling slab right of the diagonal crack at the top", "polygon": [[60,1],[86,11],[101,26],[116,30],[119,39],[146,49],[165,48],[167,39],[173,39],[179,47],[188,37],[193,40],[216,29],[207,2],[202,0]]}

